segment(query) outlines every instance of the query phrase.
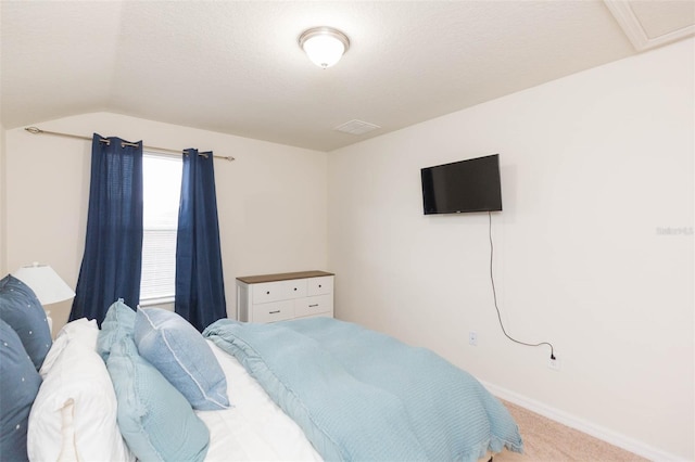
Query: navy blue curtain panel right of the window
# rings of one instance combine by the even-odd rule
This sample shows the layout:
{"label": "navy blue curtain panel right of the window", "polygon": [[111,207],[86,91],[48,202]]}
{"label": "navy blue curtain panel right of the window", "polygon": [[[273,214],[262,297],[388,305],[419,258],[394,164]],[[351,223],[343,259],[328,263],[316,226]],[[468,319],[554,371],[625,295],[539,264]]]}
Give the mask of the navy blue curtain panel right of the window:
{"label": "navy blue curtain panel right of the window", "polygon": [[212,152],[184,155],[174,307],[201,332],[227,317]]}

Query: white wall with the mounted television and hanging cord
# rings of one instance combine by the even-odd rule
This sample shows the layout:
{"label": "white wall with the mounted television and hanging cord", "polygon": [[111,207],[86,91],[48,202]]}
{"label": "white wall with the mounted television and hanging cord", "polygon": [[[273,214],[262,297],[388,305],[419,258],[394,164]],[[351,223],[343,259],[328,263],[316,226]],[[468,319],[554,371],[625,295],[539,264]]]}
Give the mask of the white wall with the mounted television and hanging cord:
{"label": "white wall with the mounted television and hanging cord", "polygon": [[[694,449],[694,41],[330,153],[337,317],[656,458]],[[424,216],[419,169],[500,153],[504,211]],[[668,235],[665,228],[690,228]],[[468,345],[468,332],[478,346]]]}

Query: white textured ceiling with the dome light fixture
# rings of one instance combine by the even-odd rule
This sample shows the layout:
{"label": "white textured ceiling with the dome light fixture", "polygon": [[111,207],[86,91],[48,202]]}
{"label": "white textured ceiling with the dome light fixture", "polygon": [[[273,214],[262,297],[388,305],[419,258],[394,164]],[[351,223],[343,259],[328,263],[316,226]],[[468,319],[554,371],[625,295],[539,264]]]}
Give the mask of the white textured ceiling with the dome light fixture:
{"label": "white textured ceiling with the dome light fixture", "polygon": [[[648,42],[691,35],[695,16],[695,2],[664,0],[4,0],[0,8],[5,129],[105,111],[320,151],[648,48],[633,44],[624,21],[636,18]],[[621,9],[634,17],[618,18]],[[351,40],[328,69],[296,42],[320,25]],[[334,130],[353,119],[381,128]]]}

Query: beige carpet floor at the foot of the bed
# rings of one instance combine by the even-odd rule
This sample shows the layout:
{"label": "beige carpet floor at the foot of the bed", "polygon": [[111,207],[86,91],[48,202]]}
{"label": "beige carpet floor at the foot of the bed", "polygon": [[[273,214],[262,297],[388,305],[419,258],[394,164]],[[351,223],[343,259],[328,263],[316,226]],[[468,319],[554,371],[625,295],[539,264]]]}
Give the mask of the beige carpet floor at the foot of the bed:
{"label": "beige carpet floor at the foot of the bed", "polygon": [[503,401],[519,425],[523,454],[504,451],[494,462],[578,461],[643,462],[646,459],[577,429],[546,419],[508,401]]}

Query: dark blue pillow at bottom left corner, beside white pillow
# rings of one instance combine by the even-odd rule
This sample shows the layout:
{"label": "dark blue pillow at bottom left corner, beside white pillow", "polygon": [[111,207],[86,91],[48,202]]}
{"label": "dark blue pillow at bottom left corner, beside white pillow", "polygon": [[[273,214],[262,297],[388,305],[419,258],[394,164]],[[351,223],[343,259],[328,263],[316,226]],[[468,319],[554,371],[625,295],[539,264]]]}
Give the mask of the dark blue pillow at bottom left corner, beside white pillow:
{"label": "dark blue pillow at bottom left corner, beside white pillow", "polygon": [[26,461],[29,412],[41,376],[16,332],[0,320],[0,459]]}

